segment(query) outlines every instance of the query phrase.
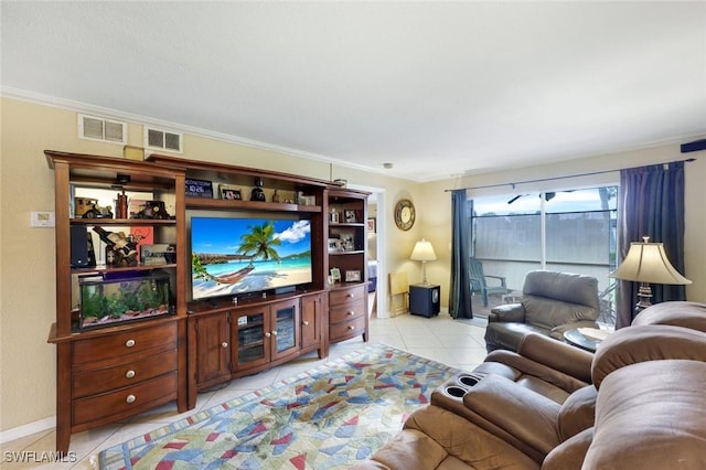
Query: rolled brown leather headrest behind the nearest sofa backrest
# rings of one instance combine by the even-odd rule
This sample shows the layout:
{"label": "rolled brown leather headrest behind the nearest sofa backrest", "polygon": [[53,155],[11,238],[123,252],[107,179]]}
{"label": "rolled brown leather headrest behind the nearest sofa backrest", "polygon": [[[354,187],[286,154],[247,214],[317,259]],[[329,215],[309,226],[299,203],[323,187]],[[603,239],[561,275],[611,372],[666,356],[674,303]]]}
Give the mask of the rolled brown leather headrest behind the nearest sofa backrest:
{"label": "rolled brown leather headrest behind the nearest sofa backrest", "polygon": [[706,333],[682,327],[646,324],[616,331],[601,342],[591,364],[593,385],[625,365],[663,359],[706,362]]}

